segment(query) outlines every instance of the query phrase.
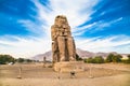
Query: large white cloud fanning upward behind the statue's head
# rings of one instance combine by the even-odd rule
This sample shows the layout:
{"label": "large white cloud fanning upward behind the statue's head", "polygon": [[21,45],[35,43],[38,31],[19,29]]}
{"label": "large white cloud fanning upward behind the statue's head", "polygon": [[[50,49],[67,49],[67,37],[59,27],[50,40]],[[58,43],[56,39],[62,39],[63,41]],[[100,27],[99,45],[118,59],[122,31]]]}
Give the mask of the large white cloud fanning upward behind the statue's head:
{"label": "large white cloud fanning upward behind the statue's head", "polygon": [[92,8],[98,3],[99,0],[50,0],[48,5],[51,10],[47,11],[48,8],[42,5],[38,0],[32,0],[35,5],[38,8],[38,19],[46,22],[47,34],[50,35],[50,26],[53,25],[56,15],[66,15],[68,23],[72,27],[72,31],[78,30],[76,26],[89,20],[89,17],[93,10]]}

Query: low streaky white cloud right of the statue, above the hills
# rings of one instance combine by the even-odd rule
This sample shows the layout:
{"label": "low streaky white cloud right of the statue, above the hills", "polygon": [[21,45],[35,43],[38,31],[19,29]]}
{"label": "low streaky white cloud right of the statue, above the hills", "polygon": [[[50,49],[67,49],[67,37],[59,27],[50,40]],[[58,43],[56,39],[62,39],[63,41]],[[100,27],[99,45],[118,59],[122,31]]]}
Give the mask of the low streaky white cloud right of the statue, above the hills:
{"label": "low streaky white cloud right of the statue, above the hills", "polygon": [[[130,48],[130,38],[127,35],[116,35],[104,39],[78,39],[76,41],[76,45],[82,49],[91,52],[129,53],[128,49]],[[123,47],[123,45],[126,45],[126,47]]]}

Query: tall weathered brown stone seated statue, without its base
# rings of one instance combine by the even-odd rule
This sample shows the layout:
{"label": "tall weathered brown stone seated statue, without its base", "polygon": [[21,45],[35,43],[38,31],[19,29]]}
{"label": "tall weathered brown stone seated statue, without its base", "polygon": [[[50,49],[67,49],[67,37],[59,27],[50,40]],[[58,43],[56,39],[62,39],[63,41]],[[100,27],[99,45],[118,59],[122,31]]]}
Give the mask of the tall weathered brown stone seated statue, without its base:
{"label": "tall weathered brown stone seated statue, without its base", "polygon": [[51,37],[53,62],[76,60],[76,46],[66,16],[55,17],[51,27]]}

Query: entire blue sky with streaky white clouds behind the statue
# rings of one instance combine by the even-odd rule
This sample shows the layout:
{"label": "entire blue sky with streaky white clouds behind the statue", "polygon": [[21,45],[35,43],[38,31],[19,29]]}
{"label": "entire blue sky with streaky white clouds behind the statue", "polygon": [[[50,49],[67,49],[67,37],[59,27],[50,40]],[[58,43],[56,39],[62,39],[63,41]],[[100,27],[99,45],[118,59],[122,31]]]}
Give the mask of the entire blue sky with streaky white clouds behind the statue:
{"label": "entire blue sky with streaky white clouds behind the statue", "polygon": [[130,0],[0,0],[0,54],[51,49],[50,27],[66,15],[76,47],[130,54]]}

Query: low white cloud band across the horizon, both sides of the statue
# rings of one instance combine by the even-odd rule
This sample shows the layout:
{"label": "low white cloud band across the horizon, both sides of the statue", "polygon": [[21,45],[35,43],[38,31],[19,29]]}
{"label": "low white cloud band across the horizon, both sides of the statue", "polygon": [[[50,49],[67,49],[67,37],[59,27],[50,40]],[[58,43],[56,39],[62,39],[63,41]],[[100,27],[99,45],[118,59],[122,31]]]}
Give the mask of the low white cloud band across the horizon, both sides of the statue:
{"label": "low white cloud band across the horizon, both sides of the statue", "polygon": [[[8,37],[4,40],[0,40],[0,54],[10,54],[16,58],[29,58],[36,54],[42,54],[51,49],[51,40],[48,38],[10,38],[15,39],[16,41],[9,41]],[[122,38],[123,40],[120,40]],[[130,38],[126,35],[109,37],[104,39],[100,39],[100,37],[92,39],[76,38],[75,42],[77,47],[91,52],[129,53],[130,49]]]}

